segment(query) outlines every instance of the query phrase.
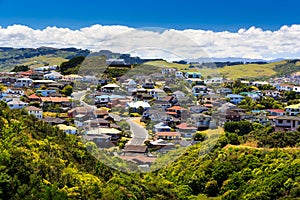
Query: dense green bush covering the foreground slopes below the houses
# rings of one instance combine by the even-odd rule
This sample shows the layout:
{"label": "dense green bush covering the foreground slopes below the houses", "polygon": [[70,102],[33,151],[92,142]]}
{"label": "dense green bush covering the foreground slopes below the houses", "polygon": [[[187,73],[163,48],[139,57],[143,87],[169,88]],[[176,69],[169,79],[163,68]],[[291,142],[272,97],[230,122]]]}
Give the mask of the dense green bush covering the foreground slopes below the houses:
{"label": "dense green bush covering the foreground slopes below the houses", "polygon": [[92,144],[0,102],[0,198],[300,197],[300,133],[274,133],[257,124],[241,124],[248,129],[239,132],[232,126],[226,125],[226,133],[210,152],[202,154],[203,144],[198,143],[157,171],[130,174],[92,156],[88,151]]}

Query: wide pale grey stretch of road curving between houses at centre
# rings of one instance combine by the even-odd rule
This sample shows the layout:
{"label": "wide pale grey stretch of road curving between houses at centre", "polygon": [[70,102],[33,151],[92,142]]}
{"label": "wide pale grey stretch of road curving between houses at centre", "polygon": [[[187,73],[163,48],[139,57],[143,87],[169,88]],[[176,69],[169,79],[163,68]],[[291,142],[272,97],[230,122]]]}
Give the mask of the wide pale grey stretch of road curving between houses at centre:
{"label": "wide pale grey stretch of road curving between houses at centre", "polygon": [[148,131],[141,125],[133,122],[134,118],[127,119],[132,132],[132,139],[128,142],[130,145],[144,145],[144,141],[148,139]]}

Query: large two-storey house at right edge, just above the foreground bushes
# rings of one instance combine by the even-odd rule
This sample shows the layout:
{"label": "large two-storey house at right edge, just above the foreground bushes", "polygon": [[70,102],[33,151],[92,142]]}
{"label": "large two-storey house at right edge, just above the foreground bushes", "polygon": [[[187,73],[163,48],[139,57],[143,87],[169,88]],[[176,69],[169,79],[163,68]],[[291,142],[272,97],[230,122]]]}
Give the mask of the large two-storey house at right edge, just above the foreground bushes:
{"label": "large two-storey house at right edge, just above the foreground bushes", "polygon": [[297,116],[279,116],[275,118],[275,130],[295,131],[300,125],[300,117]]}

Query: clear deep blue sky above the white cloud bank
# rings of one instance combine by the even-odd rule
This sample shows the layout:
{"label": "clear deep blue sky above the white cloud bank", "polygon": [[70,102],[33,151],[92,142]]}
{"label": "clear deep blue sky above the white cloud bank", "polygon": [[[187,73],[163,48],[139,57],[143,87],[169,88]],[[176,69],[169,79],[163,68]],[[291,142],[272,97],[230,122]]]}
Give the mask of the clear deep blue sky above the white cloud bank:
{"label": "clear deep blue sky above the white cloud bank", "polygon": [[93,24],[237,31],[276,30],[300,23],[300,2],[216,0],[0,0],[0,26],[23,24],[78,29]]}

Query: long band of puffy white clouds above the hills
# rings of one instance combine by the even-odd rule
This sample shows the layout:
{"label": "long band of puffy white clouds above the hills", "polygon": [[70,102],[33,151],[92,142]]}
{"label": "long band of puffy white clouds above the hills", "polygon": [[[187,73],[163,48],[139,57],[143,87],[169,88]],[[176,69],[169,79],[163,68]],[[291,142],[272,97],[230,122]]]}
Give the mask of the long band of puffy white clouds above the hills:
{"label": "long band of puffy white clouds above the hills", "polygon": [[79,30],[58,27],[39,30],[12,25],[0,27],[0,46],[108,49],[171,60],[201,57],[289,58],[300,55],[300,25],[282,26],[275,31],[250,27],[237,32],[135,29],[98,24]]}

